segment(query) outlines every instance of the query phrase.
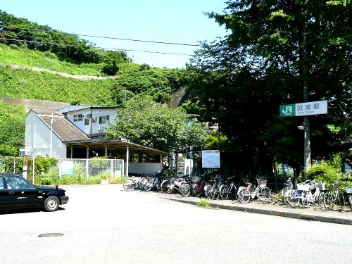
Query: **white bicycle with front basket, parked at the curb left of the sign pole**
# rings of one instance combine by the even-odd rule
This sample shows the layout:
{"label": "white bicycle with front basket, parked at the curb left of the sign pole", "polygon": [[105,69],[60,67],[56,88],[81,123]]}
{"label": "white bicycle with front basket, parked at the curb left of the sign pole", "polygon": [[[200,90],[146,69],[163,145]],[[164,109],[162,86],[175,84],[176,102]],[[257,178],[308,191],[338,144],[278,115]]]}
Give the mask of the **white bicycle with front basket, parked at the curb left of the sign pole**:
{"label": "white bicycle with front basket, parked at the curb left of the sign pole", "polygon": [[248,203],[250,199],[258,198],[261,201],[269,201],[271,190],[266,187],[267,180],[256,177],[258,185],[249,183],[247,187],[239,187],[238,196],[241,203]]}

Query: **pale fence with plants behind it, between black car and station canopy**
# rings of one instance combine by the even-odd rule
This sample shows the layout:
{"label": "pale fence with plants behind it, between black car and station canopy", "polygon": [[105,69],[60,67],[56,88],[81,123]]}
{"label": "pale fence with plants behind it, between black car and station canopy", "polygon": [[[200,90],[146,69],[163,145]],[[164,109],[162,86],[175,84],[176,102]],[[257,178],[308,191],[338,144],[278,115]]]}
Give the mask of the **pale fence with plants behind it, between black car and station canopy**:
{"label": "pale fence with plants behind it, between black car and station canopy", "polygon": [[[34,162],[33,162],[34,161]],[[24,158],[6,157],[1,160],[1,172],[23,175],[27,180],[35,182],[36,177],[80,177],[89,180],[91,177],[112,180],[113,177],[125,175],[124,160],[118,159],[84,159],[84,158]]]}

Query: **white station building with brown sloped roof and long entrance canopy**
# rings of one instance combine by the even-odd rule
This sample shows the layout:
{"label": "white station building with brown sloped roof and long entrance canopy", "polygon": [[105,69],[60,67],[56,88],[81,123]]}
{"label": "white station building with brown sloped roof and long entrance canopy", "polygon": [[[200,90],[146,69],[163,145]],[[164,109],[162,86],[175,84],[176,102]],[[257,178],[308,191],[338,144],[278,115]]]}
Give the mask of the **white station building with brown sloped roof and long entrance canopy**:
{"label": "white station building with brown sloped roof and long entrance canopy", "polygon": [[[164,151],[135,144],[127,139],[104,138],[106,127],[117,116],[114,107],[67,106],[59,111],[31,109],[25,117],[24,154],[30,157],[123,159],[125,172],[161,170]],[[131,163],[133,155],[148,154],[150,163]]]}

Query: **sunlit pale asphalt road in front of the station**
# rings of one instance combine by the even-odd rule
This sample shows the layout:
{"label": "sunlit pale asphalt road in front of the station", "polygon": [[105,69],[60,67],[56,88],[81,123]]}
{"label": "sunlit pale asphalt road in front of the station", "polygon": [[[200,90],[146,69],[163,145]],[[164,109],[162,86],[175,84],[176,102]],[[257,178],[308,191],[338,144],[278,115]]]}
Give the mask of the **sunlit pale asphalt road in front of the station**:
{"label": "sunlit pale asphalt road in front of the station", "polygon": [[[61,210],[0,214],[0,263],[352,263],[352,226],[68,186]],[[39,235],[60,237],[39,237]]]}

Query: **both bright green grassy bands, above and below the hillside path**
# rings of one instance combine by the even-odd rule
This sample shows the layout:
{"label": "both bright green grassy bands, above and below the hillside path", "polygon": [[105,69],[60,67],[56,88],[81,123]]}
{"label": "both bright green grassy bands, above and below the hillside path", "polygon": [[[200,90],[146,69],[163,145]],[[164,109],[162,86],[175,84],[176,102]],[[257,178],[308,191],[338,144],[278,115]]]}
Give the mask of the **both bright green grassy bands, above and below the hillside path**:
{"label": "both bright green grassy bands, above and below the hillside path", "polygon": [[[10,49],[0,44],[0,63],[32,66],[73,75],[99,75],[101,65],[75,65],[49,58],[40,51]],[[49,101],[65,101],[99,106],[113,106],[113,80],[83,81],[51,73],[15,70],[0,66],[0,96]]]}

